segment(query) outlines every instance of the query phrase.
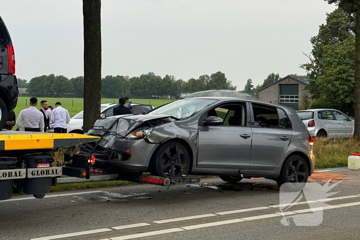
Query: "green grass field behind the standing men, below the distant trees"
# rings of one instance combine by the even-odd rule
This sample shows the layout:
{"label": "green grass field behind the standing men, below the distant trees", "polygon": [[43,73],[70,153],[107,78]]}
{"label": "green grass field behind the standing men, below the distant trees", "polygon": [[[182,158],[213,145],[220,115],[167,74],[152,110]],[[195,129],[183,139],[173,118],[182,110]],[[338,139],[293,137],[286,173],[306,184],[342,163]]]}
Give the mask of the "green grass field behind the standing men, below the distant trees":
{"label": "green grass field behind the standing men, below the distant trees", "polygon": [[[29,107],[29,97],[20,97],[17,101],[17,106],[14,110],[16,117],[19,116],[21,110]],[[69,111],[70,117],[73,117],[81,110],[83,110],[83,99],[82,98],[38,98],[40,109],[40,102],[47,100],[48,104],[55,107],[56,102],[61,102],[62,106]],[[118,99],[101,99],[101,103],[113,103],[118,102]],[[173,99],[130,99],[133,103],[151,104],[154,107],[166,104],[174,101]]]}

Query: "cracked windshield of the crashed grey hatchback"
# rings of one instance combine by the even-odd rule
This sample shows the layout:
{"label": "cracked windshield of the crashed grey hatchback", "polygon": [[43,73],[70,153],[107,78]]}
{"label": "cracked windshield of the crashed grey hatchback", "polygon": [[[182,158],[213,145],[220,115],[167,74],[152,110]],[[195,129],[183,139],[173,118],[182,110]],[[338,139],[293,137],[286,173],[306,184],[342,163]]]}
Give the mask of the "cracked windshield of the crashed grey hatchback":
{"label": "cracked windshield of the crashed grey hatchback", "polygon": [[214,99],[182,99],[160,106],[150,114],[164,114],[179,119],[187,119],[199,113],[208,105],[216,102]]}

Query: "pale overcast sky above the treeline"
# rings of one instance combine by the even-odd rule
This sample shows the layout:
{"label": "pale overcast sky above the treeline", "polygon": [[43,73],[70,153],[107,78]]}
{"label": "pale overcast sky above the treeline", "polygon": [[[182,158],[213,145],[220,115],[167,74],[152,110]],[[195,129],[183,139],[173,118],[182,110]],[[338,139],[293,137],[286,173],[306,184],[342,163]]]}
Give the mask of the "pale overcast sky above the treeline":
{"label": "pale overcast sky above the treeline", "polygon": [[[81,0],[3,1],[16,76],[83,76]],[[102,0],[102,76],[154,72],[188,80],[225,72],[242,90],[297,73],[335,9],[323,0]]]}

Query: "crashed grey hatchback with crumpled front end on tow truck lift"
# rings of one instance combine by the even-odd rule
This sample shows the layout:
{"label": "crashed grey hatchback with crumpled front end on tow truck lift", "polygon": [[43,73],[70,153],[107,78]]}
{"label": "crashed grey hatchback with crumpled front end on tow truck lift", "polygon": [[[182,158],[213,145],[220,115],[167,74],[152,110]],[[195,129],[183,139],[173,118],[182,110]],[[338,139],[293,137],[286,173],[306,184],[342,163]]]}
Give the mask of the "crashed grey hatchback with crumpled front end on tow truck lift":
{"label": "crashed grey hatchback with crumpled front end on tow truck lift", "polygon": [[101,140],[81,152],[119,172],[179,177],[183,166],[231,183],[243,174],[303,187],[315,167],[313,139],[296,111],[255,100],[182,99],[148,114],[99,119],[86,134]]}

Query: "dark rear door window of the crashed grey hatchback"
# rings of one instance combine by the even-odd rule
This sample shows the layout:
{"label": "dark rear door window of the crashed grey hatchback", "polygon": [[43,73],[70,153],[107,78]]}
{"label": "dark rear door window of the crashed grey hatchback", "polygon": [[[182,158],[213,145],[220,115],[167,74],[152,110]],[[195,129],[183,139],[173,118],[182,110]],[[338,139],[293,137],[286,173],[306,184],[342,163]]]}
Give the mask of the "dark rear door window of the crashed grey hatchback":
{"label": "dark rear door window of the crashed grey hatchback", "polygon": [[254,122],[253,127],[280,128],[279,117],[276,107],[264,104],[253,105]]}

